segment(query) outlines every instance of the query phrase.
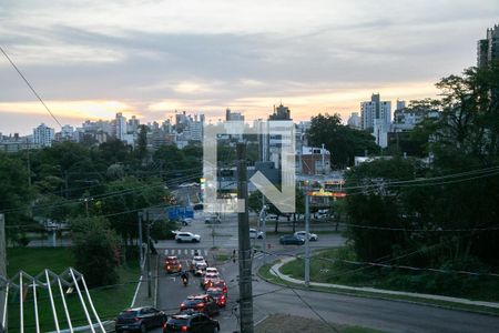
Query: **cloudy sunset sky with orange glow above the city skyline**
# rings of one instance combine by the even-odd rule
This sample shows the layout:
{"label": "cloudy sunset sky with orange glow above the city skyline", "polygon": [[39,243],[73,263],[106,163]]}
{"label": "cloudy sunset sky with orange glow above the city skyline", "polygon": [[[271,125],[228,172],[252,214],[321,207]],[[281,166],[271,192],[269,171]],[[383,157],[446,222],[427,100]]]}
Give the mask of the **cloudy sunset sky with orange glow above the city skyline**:
{"label": "cloudy sunset sky with orange glow above the city skyline", "polygon": [[[497,0],[1,0],[0,46],[61,123],[116,112],[294,120],[435,98],[476,64]],[[0,132],[58,130],[0,54]]]}

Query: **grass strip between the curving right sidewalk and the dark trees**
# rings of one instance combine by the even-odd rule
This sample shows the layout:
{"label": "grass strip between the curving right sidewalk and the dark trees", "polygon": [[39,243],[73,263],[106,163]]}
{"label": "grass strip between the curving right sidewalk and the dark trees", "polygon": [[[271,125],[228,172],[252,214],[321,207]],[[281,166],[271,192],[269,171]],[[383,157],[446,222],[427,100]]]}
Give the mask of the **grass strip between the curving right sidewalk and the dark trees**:
{"label": "grass strip between the curving right sidewalk and the dark trees", "polygon": [[[499,301],[499,279],[497,278],[469,278],[432,272],[408,273],[407,271],[379,270],[332,261],[337,258],[355,260],[353,253],[348,251],[346,248],[336,248],[314,253],[310,260],[310,281],[440,294],[490,302]],[[303,260],[294,260],[283,265],[281,272],[303,280],[304,264]],[[438,274],[438,276],[435,274]],[[461,280],[465,287],[457,287],[458,284],[455,282],[459,282],[460,279],[468,279]],[[452,281],[452,283],[447,281]]]}

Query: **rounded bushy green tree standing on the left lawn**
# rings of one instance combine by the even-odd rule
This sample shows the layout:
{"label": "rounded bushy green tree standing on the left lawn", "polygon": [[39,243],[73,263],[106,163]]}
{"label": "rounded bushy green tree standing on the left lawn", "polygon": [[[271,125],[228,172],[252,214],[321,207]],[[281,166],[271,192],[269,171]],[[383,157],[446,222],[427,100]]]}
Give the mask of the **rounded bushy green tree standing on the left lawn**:
{"label": "rounded bushy green tree standing on the left lawn", "polygon": [[121,243],[109,222],[103,218],[79,218],[71,228],[77,270],[83,273],[89,286],[115,284]]}

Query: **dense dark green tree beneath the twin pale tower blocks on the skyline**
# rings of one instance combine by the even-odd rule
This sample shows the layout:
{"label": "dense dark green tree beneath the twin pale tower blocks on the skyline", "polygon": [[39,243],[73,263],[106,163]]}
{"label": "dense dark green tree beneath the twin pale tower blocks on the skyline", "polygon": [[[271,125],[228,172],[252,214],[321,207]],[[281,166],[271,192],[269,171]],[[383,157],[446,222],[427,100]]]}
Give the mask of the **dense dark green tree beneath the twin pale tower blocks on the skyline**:
{"label": "dense dark green tree beneath the twin pale tower blocks on the skyline", "polygon": [[330,152],[330,162],[338,168],[353,165],[356,155],[373,153],[379,148],[375,138],[365,132],[342,124],[339,114],[318,114],[312,118],[307,132],[308,141],[314,147],[325,144]]}

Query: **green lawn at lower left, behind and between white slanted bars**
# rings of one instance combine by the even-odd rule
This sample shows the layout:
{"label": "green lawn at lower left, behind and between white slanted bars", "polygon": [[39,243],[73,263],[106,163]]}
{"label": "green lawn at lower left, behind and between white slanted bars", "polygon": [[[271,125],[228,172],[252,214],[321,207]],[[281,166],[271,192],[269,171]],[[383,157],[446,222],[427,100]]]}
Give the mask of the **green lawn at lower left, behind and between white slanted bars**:
{"label": "green lawn at lower left, behind and between white slanted bars", "polygon": [[[12,276],[17,271],[23,270],[29,274],[38,274],[44,269],[50,269],[55,273],[63,272],[67,268],[74,265],[71,249],[34,249],[19,248],[8,250],[9,275]],[[118,313],[128,307],[132,301],[139,280],[138,266],[122,266],[119,269],[120,284],[110,287],[93,289],[90,291],[93,304],[101,320],[114,319]],[[39,287],[38,309],[40,315],[40,325],[42,332],[53,331],[53,315],[50,305],[49,292]],[[57,285],[52,285],[52,292],[55,299],[55,309],[61,329],[67,329],[65,314],[62,305],[61,294]],[[83,295],[85,297],[85,295]],[[79,301],[77,291],[67,294],[67,302],[73,326],[86,325],[83,307]],[[86,300],[85,300],[86,301]],[[88,302],[86,302],[86,305]],[[19,292],[13,291],[9,294],[9,329],[12,332],[19,331]],[[34,302],[32,292],[28,293],[24,301],[24,327],[28,332],[34,332]],[[89,307],[90,311],[90,307]]]}

